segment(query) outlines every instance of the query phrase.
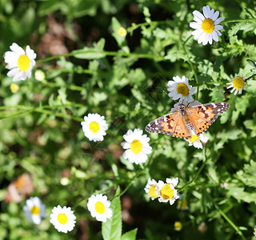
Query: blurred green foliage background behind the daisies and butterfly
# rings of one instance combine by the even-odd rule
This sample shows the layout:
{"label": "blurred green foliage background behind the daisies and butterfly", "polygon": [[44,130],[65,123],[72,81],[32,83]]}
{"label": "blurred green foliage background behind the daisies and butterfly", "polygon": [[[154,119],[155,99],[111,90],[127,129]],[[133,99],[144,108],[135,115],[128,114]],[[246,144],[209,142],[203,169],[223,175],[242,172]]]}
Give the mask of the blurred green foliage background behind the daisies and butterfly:
{"label": "blurred green foliage background behind the daisies and butterfly", "polygon": [[[255,20],[255,1],[0,1],[2,56],[12,42],[30,45],[37,60],[70,53],[37,61],[46,79],[18,82],[16,94],[2,58],[0,239],[101,239],[86,199],[96,190],[112,199],[118,186],[129,186],[121,198],[122,232],[138,228],[139,239],[253,238],[256,85],[246,59],[256,60],[256,24],[226,22],[219,42],[198,45],[189,22],[193,10],[206,5],[226,20]],[[119,26],[128,30],[126,38],[117,34]],[[234,96],[226,82],[237,74],[250,80],[246,92]],[[162,90],[176,75],[198,88],[199,102],[225,101],[230,110],[207,131],[204,150],[148,134],[150,164],[133,166],[122,158],[122,135],[168,113],[174,102]],[[106,116],[103,142],[84,137],[80,122],[88,113]],[[38,227],[23,217],[26,199],[4,201],[7,186],[22,173],[33,179],[30,195],[46,204]],[[150,177],[178,177],[180,188],[189,182],[180,192],[189,210],[149,201],[143,188]],[[49,222],[58,204],[71,206],[77,217],[66,235]],[[182,222],[181,231],[174,230],[175,221]]]}

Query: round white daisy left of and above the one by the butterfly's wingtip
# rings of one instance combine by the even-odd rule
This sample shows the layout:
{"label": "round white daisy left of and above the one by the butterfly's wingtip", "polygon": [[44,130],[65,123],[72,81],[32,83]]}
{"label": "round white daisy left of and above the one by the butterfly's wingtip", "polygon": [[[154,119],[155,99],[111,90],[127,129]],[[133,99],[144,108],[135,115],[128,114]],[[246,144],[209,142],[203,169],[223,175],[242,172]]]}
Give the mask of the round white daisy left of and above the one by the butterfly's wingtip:
{"label": "round white daisy left of and above the one by the butterfly's wingtip", "polygon": [[81,122],[81,125],[86,138],[94,142],[102,141],[108,128],[105,117],[99,114],[88,114],[84,119],[85,122]]}

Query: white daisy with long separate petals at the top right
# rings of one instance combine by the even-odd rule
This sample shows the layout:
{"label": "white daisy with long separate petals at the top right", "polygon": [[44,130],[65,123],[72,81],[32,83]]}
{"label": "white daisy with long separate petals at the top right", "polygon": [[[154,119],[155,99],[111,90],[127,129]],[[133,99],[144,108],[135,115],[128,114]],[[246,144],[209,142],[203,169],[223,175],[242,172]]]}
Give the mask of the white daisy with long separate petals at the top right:
{"label": "white daisy with long separate petals at the top right", "polygon": [[192,32],[194,35],[194,40],[198,40],[198,43],[206,45],[208,42],[213,43],[218,42],[218,36],[222,36],[219,30],[223,29],[223,26],[218,25],[224,20],[224,18],[218,18],[219,11],[214,13],[214,9],[210,9],[210,6],[203,6],[202,13],[198,10],[194,10],[194,21],[190,22],[190,27],[195,29]]}

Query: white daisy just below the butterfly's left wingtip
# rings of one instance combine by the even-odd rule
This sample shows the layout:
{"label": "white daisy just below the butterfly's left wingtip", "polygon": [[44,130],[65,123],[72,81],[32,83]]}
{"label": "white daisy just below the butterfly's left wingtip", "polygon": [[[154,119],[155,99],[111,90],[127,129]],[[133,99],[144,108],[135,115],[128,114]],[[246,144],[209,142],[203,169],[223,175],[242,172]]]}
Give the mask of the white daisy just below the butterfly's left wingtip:
{"label": "white daisy just below the butterfly's left wingtip", "polygon": [[146,154],[152,152],[152,147],[148,143],[150,138],[146,134],[143,135],[143,131],[137,128],[134,131],[128,130],[123,138],[126,140],[126,142],[121,143],[122,148],[126,150],[122,154],[123,158],[135,164],[146,162]]}

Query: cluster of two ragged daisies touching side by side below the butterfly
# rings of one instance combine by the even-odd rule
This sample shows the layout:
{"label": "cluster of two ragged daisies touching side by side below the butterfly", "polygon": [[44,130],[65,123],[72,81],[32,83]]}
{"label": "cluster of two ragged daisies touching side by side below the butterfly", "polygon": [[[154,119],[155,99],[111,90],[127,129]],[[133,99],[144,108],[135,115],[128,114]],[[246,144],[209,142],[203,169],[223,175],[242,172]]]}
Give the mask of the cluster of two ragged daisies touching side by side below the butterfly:
{"label": "cluster of two ragged daisies touching side by side below the butterfly", "polygon": [[159,180],[156,182],[154,179],[148,179],[144,190],[146,194],[154,200],[158,198],[159,202],[169,202],[173,205],[179,198],[175,186],[178,184],[178,178],[166,178],[166,182]]}

